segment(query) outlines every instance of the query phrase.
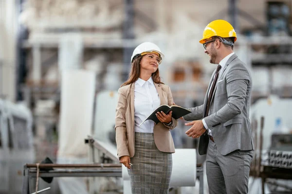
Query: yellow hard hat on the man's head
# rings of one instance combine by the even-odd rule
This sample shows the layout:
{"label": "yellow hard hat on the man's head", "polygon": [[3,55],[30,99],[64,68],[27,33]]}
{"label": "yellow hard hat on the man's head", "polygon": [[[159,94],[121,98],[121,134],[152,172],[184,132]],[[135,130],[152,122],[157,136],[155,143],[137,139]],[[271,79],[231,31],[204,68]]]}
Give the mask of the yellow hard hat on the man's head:
{"label": "yellow hard hat on the man's head", "polygon": [[203,32],[203,38],[199,42],[203,44],[206,39],[209,39],[212,36],[220,36],[222,38],[235,37],[234,42],[236,41],[236,32],[234,28],[229,22],[222,19],[210,22],[206,26]]}

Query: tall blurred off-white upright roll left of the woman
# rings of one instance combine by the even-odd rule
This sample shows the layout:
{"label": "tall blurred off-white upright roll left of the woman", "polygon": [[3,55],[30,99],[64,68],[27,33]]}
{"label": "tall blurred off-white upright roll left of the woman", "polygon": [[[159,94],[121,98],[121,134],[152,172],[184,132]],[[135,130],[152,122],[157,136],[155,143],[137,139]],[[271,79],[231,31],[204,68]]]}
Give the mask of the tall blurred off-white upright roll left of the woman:
{"label": "tall blurred off-white upright roll left of the woman", "polygon": [[58,157],[87,157],[88,145],[84,139],[91,134],[94,93],[94,72],[62,72]]}

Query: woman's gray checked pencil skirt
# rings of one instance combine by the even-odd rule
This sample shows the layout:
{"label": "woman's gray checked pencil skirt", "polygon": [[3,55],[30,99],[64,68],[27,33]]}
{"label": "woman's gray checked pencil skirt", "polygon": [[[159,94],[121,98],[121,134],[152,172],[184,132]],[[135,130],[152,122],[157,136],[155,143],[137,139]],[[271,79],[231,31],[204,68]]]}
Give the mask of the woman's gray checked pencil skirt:
{"label": "woman's gray checked pencil skirt", "polygon": [[168,194],[172,155],[157,149],[153,133],[135,132],[135,155],[130,160],[132,194]]}

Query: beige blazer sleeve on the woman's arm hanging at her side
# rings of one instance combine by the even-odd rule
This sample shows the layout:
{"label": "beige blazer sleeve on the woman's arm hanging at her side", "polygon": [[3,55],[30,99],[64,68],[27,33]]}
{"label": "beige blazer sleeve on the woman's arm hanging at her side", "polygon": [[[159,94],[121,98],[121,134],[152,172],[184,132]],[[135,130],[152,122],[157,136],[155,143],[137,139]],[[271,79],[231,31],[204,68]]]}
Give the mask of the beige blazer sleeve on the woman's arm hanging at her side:
{"label": "beige blazer sleeve on the woman's arm hanging at her side", "polygon": [[[128,96],[128,95],[127,95]],[[126,134],[126,108],[127,108],[127,97],[124,91],[120,88],[118,90],[118,104],[116,107],[115,116],[115,131],[116,131],[116,143],[118,158],[122,156],[129,156],[128,142]]]}

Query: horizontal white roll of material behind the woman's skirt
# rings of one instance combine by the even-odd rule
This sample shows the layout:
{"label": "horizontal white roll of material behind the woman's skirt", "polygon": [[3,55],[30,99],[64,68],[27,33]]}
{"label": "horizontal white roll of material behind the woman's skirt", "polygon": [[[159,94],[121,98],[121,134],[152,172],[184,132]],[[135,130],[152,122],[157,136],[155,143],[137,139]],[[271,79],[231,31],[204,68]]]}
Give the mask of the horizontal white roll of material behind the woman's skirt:
{"label": "horizontal white roll of material behind the woman's skirt", "polygon": [[[127,168],[122,165],[124,194],[131,194],[130,177]],[[197,178],[196,149],[175,149],[172,154],[172,173],[170,187],[195,186]]]}

